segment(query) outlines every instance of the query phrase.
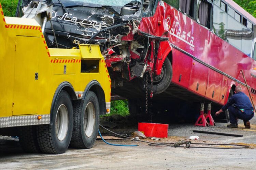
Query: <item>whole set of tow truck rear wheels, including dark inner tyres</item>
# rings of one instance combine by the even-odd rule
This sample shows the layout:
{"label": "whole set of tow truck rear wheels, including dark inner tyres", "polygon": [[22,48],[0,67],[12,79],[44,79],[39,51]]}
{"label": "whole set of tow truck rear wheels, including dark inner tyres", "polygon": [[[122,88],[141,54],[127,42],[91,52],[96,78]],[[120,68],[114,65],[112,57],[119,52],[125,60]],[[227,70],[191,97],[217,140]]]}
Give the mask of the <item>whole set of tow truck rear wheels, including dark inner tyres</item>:
{"label": "whole set of tow truck rear wheels, including dark inner tyres", "polygon": [[69,146],[89,149],[98,134],[98,98],[89,91],[85,100],[72,103],[69,94],[61,91],[51,119],[51,124],[20,127],[20,144],[26,152],[61,154]]}

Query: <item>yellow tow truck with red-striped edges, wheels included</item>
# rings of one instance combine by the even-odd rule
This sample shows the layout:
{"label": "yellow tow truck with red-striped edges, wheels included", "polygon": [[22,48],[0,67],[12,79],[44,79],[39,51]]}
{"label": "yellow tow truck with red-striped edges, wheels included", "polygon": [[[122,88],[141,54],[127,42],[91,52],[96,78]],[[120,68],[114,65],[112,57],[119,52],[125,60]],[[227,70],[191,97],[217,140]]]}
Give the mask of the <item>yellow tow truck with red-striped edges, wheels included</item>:
{"label": "yellow tow truck with red-striped edges, wheels included", "polygon": [[91,148],[99,115],[110,112],[104,58],[98,45],[48,48],[43,27],[51,14],[42,11],[41,25],[37,18],[4,17],[0,3],[0,135],[17,135],[32,153]]}

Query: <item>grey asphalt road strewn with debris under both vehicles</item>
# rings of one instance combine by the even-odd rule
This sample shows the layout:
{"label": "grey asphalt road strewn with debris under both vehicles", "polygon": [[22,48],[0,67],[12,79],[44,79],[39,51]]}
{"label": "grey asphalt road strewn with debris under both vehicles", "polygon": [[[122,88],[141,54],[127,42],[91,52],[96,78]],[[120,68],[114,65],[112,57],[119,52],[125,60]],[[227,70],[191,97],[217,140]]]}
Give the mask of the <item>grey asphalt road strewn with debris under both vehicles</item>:
{"label": "grey asphalt road strewn with debris under both vehicles", "polygon": [[[169,125],[169,138],[165,141],[188,139],[199,136],[197,142],[210,143],[256,143],[256,118],[252,128],[245,129],[242,121],[239,128],[227,128],[227,123],[214,127],[194,127],[191,124]],[[115,132],[130,133],[136,128],[112,129]],[[193,133],[192,130],[209,130],[241,134],[243,137],[229,137]],[[68,149],[65,154],[27,154],[19,146],[18,139],[0,138],[1,169],[255,169],[256,149],[203,149],[173,148],[170,146],[149,146],[131,140],[108,140],[116,144],[134,144],[136,147],[111,146],[97,140],[88,150]]]}

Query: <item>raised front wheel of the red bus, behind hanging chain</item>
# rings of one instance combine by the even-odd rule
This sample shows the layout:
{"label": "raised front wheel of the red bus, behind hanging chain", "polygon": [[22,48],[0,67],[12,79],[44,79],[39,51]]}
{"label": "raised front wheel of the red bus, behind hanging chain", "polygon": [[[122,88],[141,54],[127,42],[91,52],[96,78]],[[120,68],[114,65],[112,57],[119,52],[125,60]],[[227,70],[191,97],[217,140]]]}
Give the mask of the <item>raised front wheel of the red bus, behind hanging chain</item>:
{"label": "raised front wheel of the red bus, behind hanging chain", "polygon": [[[147,82],[146,82],[147,76]],[[153,94],[160,94],[165,91],[171,83],[172,79],[172,64],[168,58],[163,62],[162,70],[160,75],[152,75],[153,81]],[[151,77],[149,73],[144,76],[143,89],[145,91],[145,83],[147,83],[148,92],[151,92]]]}

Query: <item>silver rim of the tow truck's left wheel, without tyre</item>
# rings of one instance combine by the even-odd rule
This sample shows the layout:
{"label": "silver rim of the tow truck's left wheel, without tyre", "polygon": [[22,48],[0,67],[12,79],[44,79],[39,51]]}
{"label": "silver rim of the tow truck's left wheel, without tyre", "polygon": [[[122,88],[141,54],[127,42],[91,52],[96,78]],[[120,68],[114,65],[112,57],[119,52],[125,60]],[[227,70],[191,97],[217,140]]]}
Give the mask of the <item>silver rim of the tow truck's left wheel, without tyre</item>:
{"label": "silver rim of the tow truck's left wheel, without tyre", "polygon": [[55,130],[57,134],[57,138],[60,141],[63,141],[67,136],[68,132],[68,110],[65,105],[60,105],[56,114],[56,122],[55,122]]}

